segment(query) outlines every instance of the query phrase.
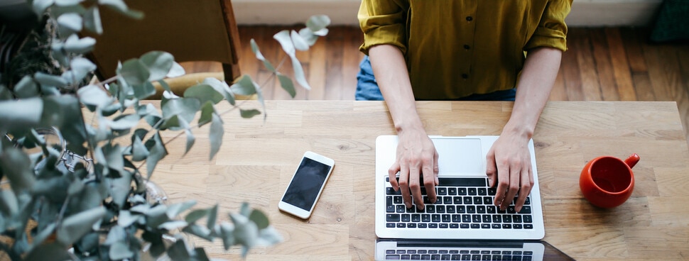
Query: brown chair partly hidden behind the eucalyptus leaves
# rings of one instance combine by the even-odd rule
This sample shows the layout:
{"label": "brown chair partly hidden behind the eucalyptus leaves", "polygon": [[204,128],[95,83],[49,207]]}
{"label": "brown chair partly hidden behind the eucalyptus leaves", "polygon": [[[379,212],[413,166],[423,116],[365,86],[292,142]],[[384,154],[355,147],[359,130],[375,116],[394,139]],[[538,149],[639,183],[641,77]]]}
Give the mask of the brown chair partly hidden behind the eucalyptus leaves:
{"label": "brown chair partly hidden behind the eucalyptus leaves", "polygon": [[[166,79],[175,94],[206,77],[232,84],[239,77],[239,31],[230,0],[137,0],[130,9],[143,11],[136,20],[108,8],[100,9],[102,35],[90,58],[100,79],[114,77],[118,61],[139,57],[151,50],[170,52],[176,62],[221,62],[223,72],[186,74]],[[156,84],[157,85],[157,84]],[[156,86],[160,99],[162,88]]]}

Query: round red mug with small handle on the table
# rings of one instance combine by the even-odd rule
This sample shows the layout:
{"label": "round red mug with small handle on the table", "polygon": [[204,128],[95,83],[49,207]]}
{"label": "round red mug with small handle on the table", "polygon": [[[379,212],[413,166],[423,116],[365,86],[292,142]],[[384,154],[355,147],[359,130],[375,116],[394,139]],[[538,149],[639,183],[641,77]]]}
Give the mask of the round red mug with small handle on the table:
{"label": "round red mug with small handle on the table", "polygon": [[639,162],[636,153],[626,160],[617,157],[597,157],[586,164],[579,177],[584,197],[594,206],[614,208],[622,205],[634,191],[634,172]]}

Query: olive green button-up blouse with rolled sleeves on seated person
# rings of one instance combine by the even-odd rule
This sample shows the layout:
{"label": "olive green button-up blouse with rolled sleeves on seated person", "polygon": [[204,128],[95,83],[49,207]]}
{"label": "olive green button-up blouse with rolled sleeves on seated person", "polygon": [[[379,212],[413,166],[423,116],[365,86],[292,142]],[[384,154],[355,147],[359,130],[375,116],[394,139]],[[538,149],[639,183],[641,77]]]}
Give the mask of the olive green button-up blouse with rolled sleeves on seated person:
{"label": "olive green button-up blouse with rolled sleeves on seated person", "polygon": [[531,48],[566,50],[572,0],[362,0],[360,50],[402,51],[416,99],[516,86]]}

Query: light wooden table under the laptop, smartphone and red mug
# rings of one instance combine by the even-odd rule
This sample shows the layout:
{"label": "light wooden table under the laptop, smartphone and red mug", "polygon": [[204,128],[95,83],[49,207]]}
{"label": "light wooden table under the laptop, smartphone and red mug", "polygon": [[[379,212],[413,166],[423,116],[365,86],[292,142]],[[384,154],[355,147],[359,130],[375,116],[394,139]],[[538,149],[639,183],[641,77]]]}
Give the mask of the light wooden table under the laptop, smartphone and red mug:
{"label": "light wooden table under the laptop, smartphone and red mug", "polygon": [[[284,242],[255,248],[247,260],[372,260],[375,138],[395,134],[385,104],[267,101],[266,106],[265,121],[225,114],[222,148],[210,162],[202,134],[207,127],[195,131],[196,147],[185,157],[184,138],[173,141],[153,180],[173,202],[219,203],[224,221],[243,201],[265,211]],[[418,102],[418,111],[429,135],[499,135],[511,106],[429,101]],[[533,140],[548,243],[577,260],[689,258],[689,150],[674,102],[550,102]],[[305,150],[336,162],[307,221],[278,211]],[[588,160],[634,152],[641,161],[634,167],[636,187],[629,201],[597,209],[583,199],[578,179]],[[239,250],[224,252],[221,243],[199,245],[215,257],[239,259]]]}

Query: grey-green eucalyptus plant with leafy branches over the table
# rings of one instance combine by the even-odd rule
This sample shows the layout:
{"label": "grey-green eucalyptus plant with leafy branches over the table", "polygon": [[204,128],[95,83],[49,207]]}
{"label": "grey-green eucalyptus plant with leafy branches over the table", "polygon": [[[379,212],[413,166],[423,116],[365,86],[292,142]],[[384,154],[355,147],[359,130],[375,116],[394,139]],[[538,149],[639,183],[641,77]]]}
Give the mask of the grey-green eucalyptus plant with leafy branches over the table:
{"label": "grey-green eucalyptus plant with leafy branches over the table", "polygon": [[[170,140],[163,140],[162,131],[184,135],[186,153],[195,144],[193,130],[207,126],[212,159],[222,144],[221,115],[229,112],[216,105],[227,102],[243,118],[260,115],[259,109],[244,109],[235,100],[236,95],[255,95],[263,104],[259,84],[248,75],[232,85],[209,78],[175,96],[165,79],[184,72],[163,51],[124,60],[116,77],[89,83],[96,66],[84,55],[96,41],[81,38],[80,31],[102,33],[99,9],[104,7],[132,18],[144,14],[122,0],[28,4],[45,18],[41,28],[50,35],[45,52],[60,72],[1,75],[18,81],[0,84],[0,255],[11,260],[139,260],[146,250],[153,257],[208,260],[202,248],[188,245],[187,235],[219,239],[225,250],[239,245],[242,255],[281,241],[267,216],[248,204],[229,213],[232,223],[227,223],[217,222],[217,205],[192,209],[195,201],[163,204],[146,194],[156,165],[168,155]],[[274,35],[291,60],[296,82],[306,89],[295,51],[308,50],[327,34],[329,23],[327,16],[313,16],[298,32]],[[294,96],[292,79],[261,55],[254,40],[251,48]],[[142,102],[155,93],[153,82],[166,89],[160,110]],[[45,133],[63,142],[52,142]]]}

